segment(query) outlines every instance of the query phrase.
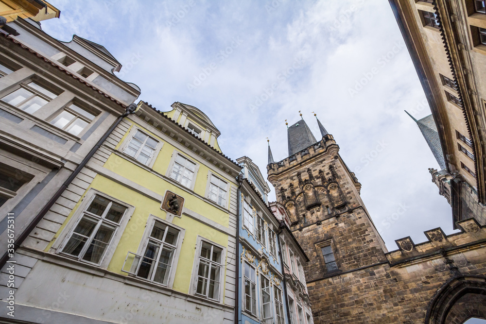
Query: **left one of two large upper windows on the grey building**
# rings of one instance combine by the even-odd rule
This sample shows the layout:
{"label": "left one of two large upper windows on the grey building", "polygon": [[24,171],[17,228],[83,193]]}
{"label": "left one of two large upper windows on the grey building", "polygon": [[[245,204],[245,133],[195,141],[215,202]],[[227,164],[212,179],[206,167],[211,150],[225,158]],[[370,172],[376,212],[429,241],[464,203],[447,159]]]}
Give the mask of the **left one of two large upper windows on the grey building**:
{"label": "left one of two large upper windows on the grey building", "polygon": [[46,103],[56,98],[58,94],[54,94],[44,86],[31,81],[21,85],[20,88],[4,96],[1,100],[29,114],[33,114]]}

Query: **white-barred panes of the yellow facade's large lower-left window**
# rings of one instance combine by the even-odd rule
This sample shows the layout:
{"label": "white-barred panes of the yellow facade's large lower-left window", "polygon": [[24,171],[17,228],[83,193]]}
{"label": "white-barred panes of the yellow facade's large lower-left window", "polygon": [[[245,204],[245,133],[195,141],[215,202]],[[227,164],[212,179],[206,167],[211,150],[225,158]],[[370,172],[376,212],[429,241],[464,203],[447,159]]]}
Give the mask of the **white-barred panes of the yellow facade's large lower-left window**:
{"label": "white-barred panes of the yellow facade's large lower-left window", "polygon": [[99,264],[126,209],[114,201],[95,195],[69,235],[62,253]]}

